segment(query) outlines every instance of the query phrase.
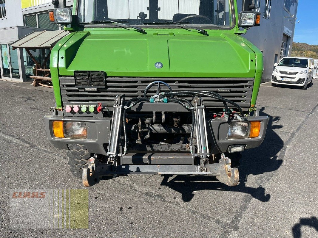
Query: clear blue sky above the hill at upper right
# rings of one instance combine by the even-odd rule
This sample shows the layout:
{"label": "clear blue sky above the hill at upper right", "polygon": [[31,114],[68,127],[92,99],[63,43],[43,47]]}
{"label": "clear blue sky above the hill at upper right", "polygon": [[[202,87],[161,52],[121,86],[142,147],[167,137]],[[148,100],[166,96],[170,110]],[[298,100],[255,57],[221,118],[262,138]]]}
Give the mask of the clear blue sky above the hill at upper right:
{"label": "clear blue sky above the hill at upper right", "polygon": [[294,42],[318,45],[318,0],[298,0]]}

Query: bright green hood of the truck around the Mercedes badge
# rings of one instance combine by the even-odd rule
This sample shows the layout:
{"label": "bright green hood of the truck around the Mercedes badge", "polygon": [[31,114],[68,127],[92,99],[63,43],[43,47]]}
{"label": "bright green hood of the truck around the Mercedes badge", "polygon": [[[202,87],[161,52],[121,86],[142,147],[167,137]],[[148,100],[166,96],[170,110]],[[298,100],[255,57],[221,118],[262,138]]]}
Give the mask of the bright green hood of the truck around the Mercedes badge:
{"label": "bright green hood of the truck around the Mercedes badge", "polygon": [[[255,76],[255,53],[237,35],[178,29],[92,29],[69,37],[59,50],[59,75],[74,70],[105,71],[108,76],[235,77]],[[157,69],[156,62],[163,67]]]}

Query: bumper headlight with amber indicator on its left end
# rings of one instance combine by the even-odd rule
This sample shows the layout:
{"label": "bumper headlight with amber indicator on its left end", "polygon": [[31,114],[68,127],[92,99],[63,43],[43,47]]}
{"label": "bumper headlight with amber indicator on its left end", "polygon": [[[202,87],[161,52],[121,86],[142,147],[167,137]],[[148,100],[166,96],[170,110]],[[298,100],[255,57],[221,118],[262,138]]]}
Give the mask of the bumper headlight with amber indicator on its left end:
{"label": "bumper headlight with amber indicator on its left end", "polygon": [[87,129],[85,122],[52,122],[53,134],[57,138],[86,139]]}

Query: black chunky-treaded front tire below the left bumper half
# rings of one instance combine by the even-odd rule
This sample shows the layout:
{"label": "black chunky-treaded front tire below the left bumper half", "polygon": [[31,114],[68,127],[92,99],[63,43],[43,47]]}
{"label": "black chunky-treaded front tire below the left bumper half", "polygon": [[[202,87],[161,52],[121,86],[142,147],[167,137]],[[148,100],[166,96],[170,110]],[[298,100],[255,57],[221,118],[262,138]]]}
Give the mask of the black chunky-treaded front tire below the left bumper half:
{"label": "black chunky-treaded front tire below the left bumper half", "polygon": [[88,159],[92,154],[88,152],[86,145],[68,144],[69,150],[66,151],[68,164],[72,174],[77,177],[82,177],[82,170],[87,167]]}

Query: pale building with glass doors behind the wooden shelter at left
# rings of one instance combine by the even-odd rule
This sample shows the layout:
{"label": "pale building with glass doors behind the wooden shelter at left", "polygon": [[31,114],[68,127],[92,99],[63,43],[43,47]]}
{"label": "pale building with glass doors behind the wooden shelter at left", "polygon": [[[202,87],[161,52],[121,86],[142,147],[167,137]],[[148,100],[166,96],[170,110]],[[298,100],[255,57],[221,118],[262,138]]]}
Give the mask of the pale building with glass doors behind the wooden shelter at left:
{"label": "pale building with glass doors behind the wooden shelter at left", "polygon": [[[60,1],[62,2],[62,1]],[[73,1],[66,1],[72,7]],[[49,21],[52,0],[0,0],[0,78],[24,82],[32,75],[34,62],[24,49],[12,50],[13,43],[33,31],[59,30]],[[43,63],[48,50],[33,50]]]}

